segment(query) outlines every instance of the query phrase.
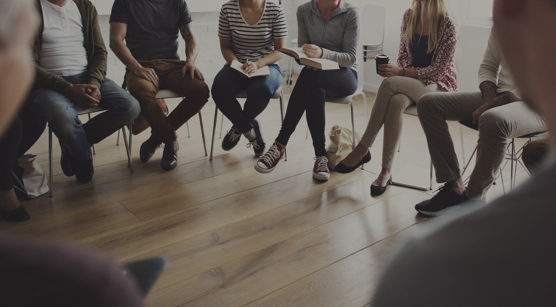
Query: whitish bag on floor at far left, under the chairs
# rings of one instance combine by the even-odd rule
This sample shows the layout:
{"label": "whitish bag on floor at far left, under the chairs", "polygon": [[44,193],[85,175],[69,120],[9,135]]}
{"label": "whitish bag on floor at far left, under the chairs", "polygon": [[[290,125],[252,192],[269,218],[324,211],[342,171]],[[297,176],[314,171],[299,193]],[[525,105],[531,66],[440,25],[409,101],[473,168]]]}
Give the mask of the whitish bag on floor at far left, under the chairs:
{"label": "whitish bag on floor at far left, under the chairs", "polygon": [[36,155],[24,154],[17,159],[19,166],[23,168],[23,185],[31,198],[48,192],[48,180],[36,157]]}

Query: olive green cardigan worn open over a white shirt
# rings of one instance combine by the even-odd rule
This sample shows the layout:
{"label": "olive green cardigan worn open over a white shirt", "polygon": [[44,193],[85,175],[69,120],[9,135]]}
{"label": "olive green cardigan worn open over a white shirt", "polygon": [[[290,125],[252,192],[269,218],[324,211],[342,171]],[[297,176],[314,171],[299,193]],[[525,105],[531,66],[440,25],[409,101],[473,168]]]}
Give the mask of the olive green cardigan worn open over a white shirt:
{"label": "olive green cardigan worn open over a white shirt", "polygon": [[[106,47],[102,40],[101,29],[98,26],[97,9],[89,0],[68,0],[77,4],[77,8],[81,12],[81,21],[83,23],[83,36],[85,36],[85,50],[87,51],[87,60],[89,71],[88,83],[96,84],[99,88],[106,77]],[[66,82],[62,77],[45,71],[41,67],[41,58],[39,51],[42,46],[42,32],[44,27],[44,19],[42,16],[41,0],[35,0],[39,26],[38,35],[33,43],[34,62],[36,64],[37,79],[36,83],[40,87],[56,90],[63,93],[70,83]]]}

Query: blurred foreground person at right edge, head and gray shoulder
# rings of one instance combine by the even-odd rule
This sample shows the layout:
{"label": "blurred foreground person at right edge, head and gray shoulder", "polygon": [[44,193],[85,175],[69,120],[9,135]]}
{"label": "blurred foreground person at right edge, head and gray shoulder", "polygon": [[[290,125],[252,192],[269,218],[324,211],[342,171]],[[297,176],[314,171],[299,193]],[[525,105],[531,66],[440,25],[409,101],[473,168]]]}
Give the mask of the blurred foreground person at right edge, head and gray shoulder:
{"label": "blurred foreground person at right edge, head and gray shoulder", "polygon": [[[550,131],[556,129],[556,0],[495,0],[494,31],[524,100]],[[373,305],[550,305],[556,273],[554,141],[551,134],[550,153],[528,182],[410,241],[386,270]]]}

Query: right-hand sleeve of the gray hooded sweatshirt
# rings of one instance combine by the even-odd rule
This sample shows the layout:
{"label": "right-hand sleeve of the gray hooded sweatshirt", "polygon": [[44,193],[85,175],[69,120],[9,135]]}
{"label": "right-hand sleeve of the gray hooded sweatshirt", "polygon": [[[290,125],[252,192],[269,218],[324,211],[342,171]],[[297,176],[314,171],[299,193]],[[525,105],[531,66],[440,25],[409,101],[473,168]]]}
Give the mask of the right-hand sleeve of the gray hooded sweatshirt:
{"label": "right-hand sleeve of the gray hooded sweatshirt", "polygon": [[344,50],[335,52],[322,48],[322,58],[338,62],[340,67],[352,67],[355,64],[359,43],[359,9],[351,9],[347,14],[345,29],[337,29],[337,32],[331,30],[330,33],[326,33],[326,35],[343,36]]}

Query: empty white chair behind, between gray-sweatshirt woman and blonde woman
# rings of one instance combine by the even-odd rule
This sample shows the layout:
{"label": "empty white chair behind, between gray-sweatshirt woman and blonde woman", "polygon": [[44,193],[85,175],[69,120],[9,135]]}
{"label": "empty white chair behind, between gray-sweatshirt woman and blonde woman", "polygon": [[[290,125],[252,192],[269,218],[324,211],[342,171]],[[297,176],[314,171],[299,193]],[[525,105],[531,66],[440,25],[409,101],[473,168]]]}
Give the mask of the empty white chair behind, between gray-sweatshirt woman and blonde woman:
{"label": "empty white chair behind, between gray-sweatshirt woman and blonde woman", "polygon": [[[376,54],[384,53],[384,30],[386,28],[386,8],[366,4],[361,13],[361,42],[363,43],[363,61],[374,59]],[[367,53],[373,54],[367,56]]]}

